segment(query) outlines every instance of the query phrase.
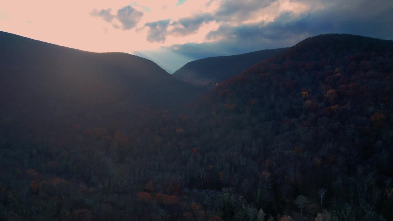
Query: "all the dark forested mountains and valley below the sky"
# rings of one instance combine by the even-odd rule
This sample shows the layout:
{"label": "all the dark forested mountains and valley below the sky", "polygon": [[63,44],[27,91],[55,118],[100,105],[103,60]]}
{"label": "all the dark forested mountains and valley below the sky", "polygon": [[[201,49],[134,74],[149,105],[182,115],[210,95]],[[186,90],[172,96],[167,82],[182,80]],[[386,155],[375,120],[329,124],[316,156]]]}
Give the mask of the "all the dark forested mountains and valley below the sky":
{"label": "all the dark forested mountains and valley below the sky", "polygon": [[390,221],[392,94],[359,35],[171,76],[0,32],[0,220]]}

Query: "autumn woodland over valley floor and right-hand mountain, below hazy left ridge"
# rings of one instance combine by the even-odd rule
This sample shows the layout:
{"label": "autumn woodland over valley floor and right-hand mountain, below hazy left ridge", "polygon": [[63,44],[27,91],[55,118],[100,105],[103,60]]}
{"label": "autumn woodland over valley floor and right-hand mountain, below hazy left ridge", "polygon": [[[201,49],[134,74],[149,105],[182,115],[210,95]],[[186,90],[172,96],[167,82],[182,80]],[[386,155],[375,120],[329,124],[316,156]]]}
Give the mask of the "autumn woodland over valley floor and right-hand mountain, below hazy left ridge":
{"label": "autumn woodland over valley floor and right-hand mountain, below hazy left ridge", "polygon": [[4,119],[1,218],[392,220],[392,86],[393,41],[329,34],[176,112],[23,136]]}

